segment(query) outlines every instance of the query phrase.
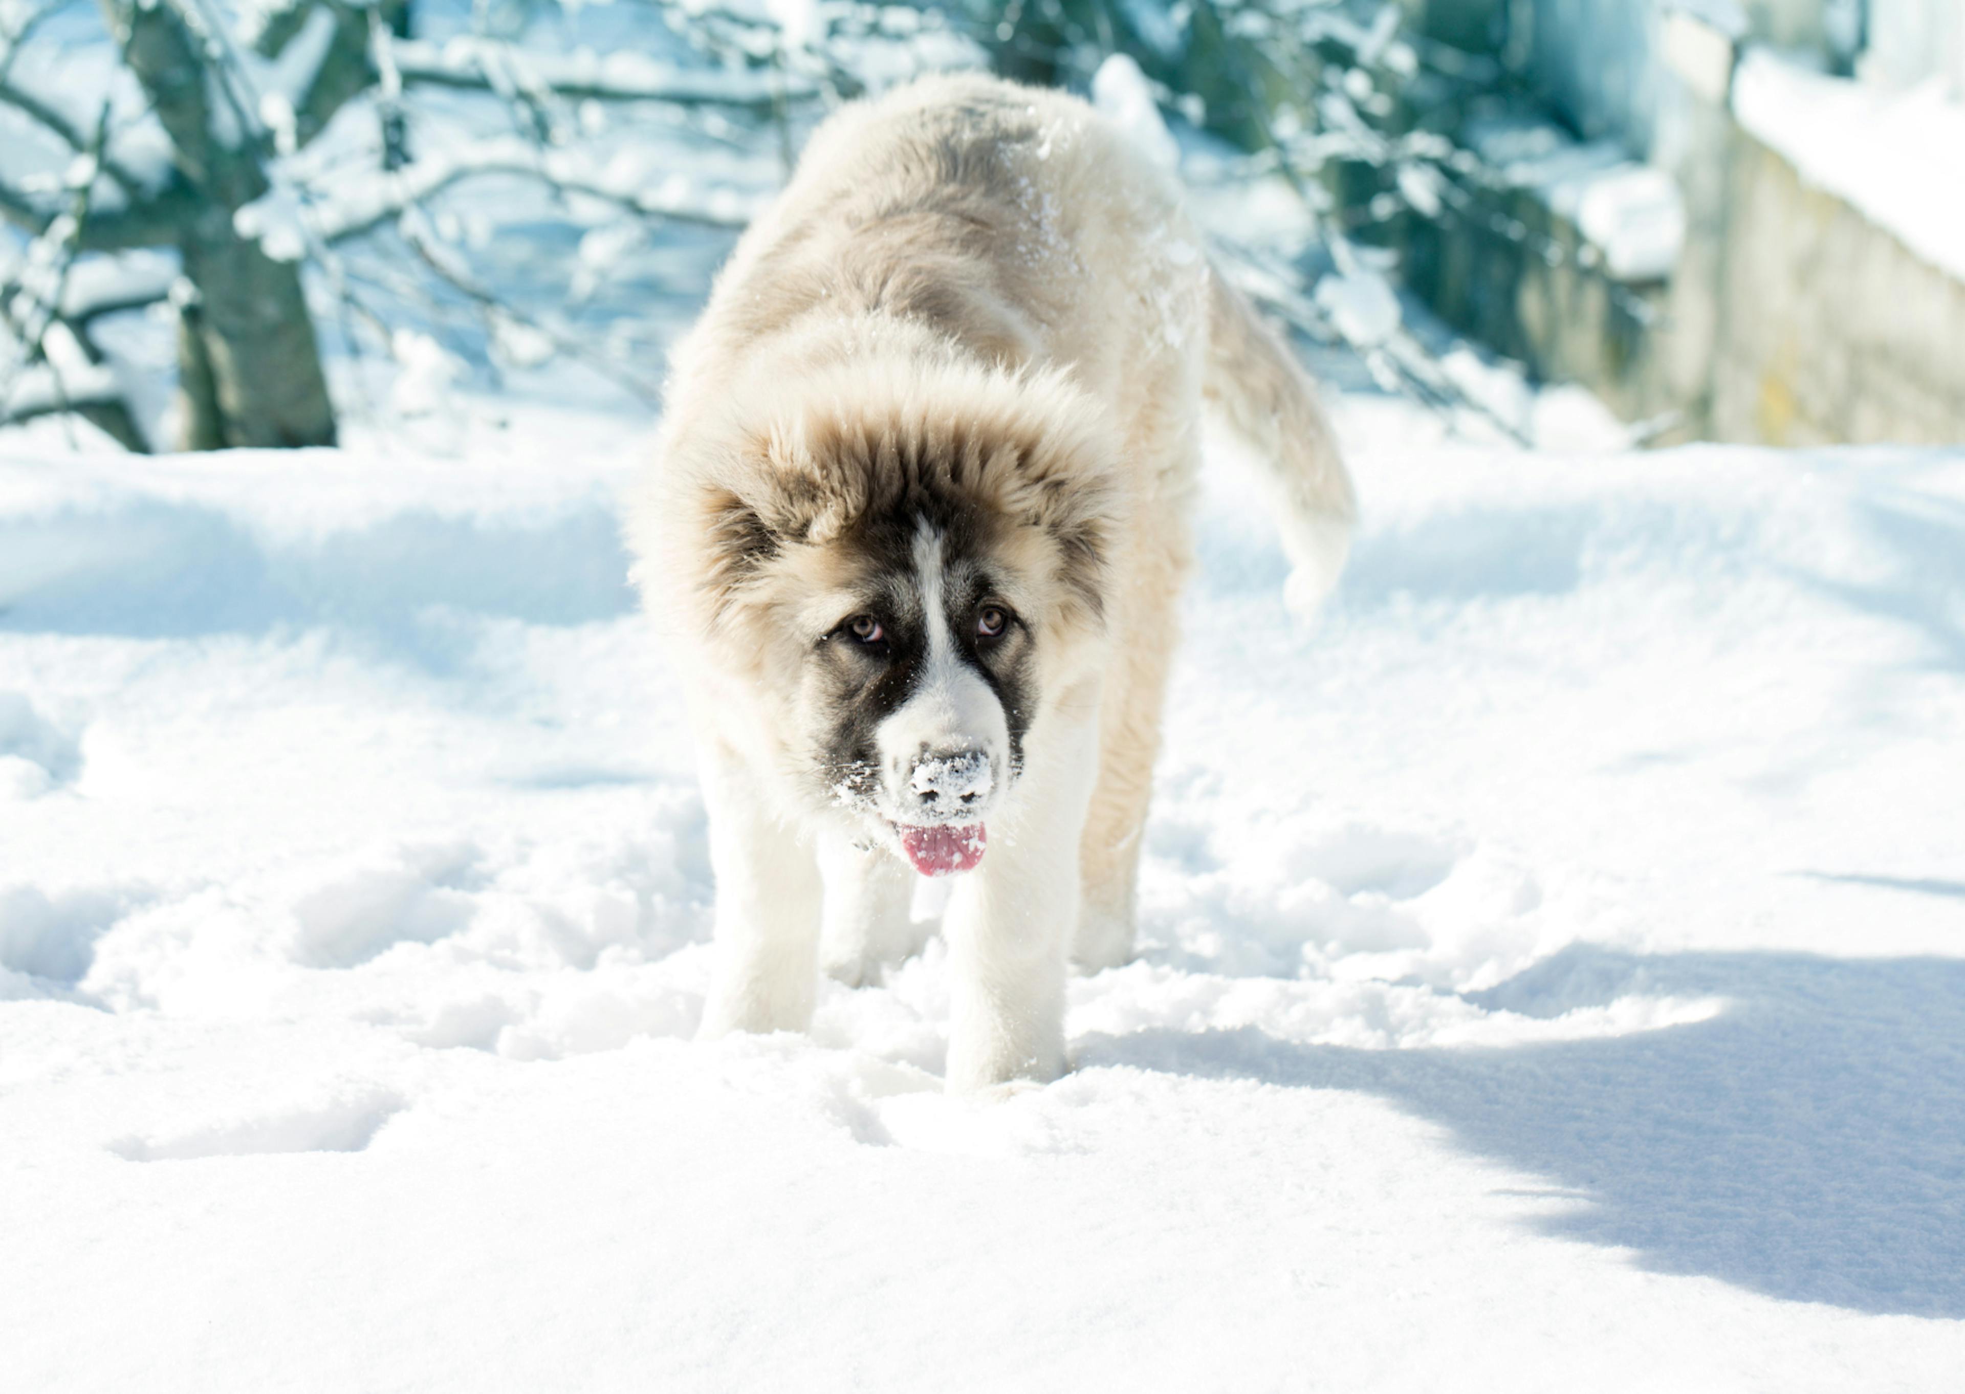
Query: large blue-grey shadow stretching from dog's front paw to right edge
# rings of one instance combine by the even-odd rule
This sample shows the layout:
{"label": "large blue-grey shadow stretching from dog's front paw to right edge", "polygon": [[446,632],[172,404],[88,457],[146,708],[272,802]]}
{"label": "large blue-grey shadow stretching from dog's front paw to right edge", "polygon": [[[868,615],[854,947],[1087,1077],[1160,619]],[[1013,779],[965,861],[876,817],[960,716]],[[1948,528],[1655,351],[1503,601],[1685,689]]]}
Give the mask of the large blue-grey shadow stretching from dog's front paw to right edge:
{"label": "large blue-grey shadow stretching from dog's front paw to right edge", "polygon": [[1558,1016],[1633,991],[1731,1005],[1497,1050],[1301,1046],[1254,1028],[1077,1044],[1083,1066],[1383,1095],[1588,1199],[1537,1227],[1635,1249],[1658,1272],[1965,1317],[1965,961],[1574,946],[1470,997]]}

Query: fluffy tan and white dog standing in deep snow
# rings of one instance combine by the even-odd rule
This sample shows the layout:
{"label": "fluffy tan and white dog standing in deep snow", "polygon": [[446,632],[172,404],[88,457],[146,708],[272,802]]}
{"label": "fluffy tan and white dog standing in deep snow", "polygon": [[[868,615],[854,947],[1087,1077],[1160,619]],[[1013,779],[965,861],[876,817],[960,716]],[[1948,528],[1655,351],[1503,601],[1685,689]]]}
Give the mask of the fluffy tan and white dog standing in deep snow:
{"label": "fluffy tan and white dog standing in deep snow", "polygon": [[1354,494],[1175,177],[1089,104],[939,77],[841,108],[678,346],[629,509],[690,690],[703,1036],[804,1030],[955,875],[951,1093],[1065,1070],[1067,965],[1132,954],[1205,399],[1269,464],[1287,598]]}

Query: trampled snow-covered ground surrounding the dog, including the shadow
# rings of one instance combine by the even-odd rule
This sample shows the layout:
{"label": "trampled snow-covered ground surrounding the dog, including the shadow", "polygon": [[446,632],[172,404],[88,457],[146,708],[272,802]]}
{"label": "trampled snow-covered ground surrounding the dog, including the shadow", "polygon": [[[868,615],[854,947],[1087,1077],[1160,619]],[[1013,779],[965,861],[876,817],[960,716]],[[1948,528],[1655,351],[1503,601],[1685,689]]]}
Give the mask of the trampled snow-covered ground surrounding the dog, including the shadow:
{"label": "trampled snow-covered ground surrounding the dog, including the shadow", "polygon": [[[0,464],[8,1390],[1947,1390],[1965,454],[1218,462],[1140,961],[690,1040],[637,429]],[[933,912],[931,897],[920,910]]]}

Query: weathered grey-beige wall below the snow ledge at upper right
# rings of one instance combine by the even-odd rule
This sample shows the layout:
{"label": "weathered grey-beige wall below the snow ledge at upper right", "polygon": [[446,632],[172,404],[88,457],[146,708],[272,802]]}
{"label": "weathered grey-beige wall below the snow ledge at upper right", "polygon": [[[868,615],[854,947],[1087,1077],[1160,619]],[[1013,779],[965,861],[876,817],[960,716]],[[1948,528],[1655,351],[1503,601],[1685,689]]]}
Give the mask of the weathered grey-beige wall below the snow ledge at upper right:
{"label": "weathered grey-beige wall below the snow ledge at upper right", "polygon": [[[1552,197],[1560,179],[1537,173],[1603,142],[1556,149],[1554,136],[1535,161],[1509,161],[1470,120],[1454,140],[1507,179],[1472,214],[1403,224],[1409,285],[1460,332],[1544,379],[1584,383],[1658,444],[1965,440],[1965,277],[1955,260],[1932,260],[1930,218],[1920,240],[1810,183],[1792,151],[1735,116],[1733,43],[1702,33],[1710,53],[1666,33],[1680,39],[1664,45],[1678,71],[1656,88],[1670,122],[1651,167],[1670,175],[1684,208],[1668,273],[1613,275]],[[1886,130],[1890,144],[1953,138],[1951,126]],[[1877,151],[1888,179],[1947,179],[1955,165],[1937,151],[1902,155]]]}

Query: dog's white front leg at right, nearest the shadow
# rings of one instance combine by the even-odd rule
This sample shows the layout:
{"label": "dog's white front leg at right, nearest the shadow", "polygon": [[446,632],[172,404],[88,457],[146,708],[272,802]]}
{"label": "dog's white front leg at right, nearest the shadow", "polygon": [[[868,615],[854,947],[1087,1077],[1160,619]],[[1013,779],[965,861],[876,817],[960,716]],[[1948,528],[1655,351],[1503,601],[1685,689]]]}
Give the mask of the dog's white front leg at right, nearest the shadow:
{"label": "dog's white front leg at right, nearest the shadow", "polygon": [[963,877],[949,942],[949,1093],[1065,1072],[1065,952],[1079,916],[1079,840],[1098,773],[1096,694],[1032,729],[1016,808]]}

